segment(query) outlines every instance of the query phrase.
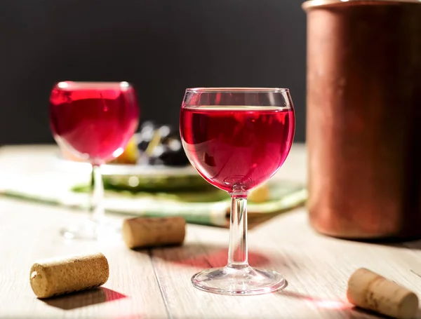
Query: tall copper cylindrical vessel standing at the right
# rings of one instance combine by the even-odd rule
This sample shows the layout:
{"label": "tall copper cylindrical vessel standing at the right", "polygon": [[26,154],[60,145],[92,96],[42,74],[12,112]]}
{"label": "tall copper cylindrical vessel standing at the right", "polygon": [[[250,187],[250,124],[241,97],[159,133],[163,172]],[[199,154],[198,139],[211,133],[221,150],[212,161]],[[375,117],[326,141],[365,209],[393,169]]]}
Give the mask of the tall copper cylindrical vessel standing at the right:
{"label": "tall copper cylindrical vessel standing at the right", "polygon": [[309,220],[421,237],[421,2],[306,1]]}

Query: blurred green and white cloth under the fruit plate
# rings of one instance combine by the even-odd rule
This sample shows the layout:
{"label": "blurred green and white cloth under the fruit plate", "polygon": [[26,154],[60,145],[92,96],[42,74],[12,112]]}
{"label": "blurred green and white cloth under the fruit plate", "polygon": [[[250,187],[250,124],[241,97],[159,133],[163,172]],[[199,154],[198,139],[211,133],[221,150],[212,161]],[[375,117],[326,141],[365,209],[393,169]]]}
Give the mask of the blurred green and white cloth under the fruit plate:
{"label": "blurred green and white cloth under the fruit plate", "polygon": [[[86,177],[86,176],[85,176]],[[1,193],[29,201],[62,205],[68,208],[88,208],[89,197],[86,178],[72,174],[39,172],[8,180]],[[271,182],[268,201],[248,201],[248,221],[260,222],[305,203],[307,190],[294,182]],[[182,216],[193,224],[213,226],[229,225],[230,199],[218,189],[200,191],[126,191],[107,184],[105,179],[104,205],[107,212],[127,216],[166,217]]]}

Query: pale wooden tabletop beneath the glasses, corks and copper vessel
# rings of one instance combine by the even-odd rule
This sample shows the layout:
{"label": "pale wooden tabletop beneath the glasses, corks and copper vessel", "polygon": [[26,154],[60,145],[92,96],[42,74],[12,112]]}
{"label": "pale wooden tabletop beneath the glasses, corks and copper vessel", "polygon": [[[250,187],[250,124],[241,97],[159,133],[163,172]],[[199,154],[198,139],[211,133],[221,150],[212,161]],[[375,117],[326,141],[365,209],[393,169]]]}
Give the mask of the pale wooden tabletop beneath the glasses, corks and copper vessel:
{"label": "pale wooden tabletop beneath the glasses, corks and copper vessel", "polygon": [[[41,169],[51,147],[3,147],[0,178]],[[32,158],[24,165],[22,156]],[[27,163],[27,162],[25,162]],[[280,177],[305,181],[305,147],[295,144]],[[7,182],[7,181],[3,181]],[[0,318],[377,318],[347,303],[347,278],[368,269],[421,295],[421,242],[356,243],[315,233],[304,208],[249,231],[250,264],[279,271],[286,290],[255,297],[196,290],[190,277],[227,260],[228,231],[189,225],[182,247],[128,250],[122,242],[65,241],[58,229],[74,210],[0,197]],[[42,301],[29,286],[36,259],[101,251],[109,260],[104,287]]]}

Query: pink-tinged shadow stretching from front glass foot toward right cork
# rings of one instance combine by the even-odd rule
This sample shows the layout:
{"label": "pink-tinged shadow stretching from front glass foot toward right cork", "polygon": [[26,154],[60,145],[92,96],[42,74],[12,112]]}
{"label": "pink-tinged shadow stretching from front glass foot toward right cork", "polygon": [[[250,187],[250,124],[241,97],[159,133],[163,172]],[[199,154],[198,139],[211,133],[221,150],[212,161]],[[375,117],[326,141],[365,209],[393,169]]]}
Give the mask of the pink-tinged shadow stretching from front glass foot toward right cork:
{"label": "pink-tinged shadow stretching from front glass foot toward right cork", "polygon": [[[380,315],[372,311],[366,311],[361,308],[356,308],[352,304],[349,304],[340,299],[323,299],[319,297],[308,296],[307,294],[300,294],[299,292],[291,292],[286,290],[281,290],[276,292],[277,295],[300,299],[302,301],[307,301],[310,306],[317,308],[320,313],[326,313],[329,315],[334,315],[334,318],[344,318],[344,319],[379,319],[379,318],[389,318],[385,315]],[[420,312],[420,311],[419,311]],[[417,315],[417,318],[420,318]]]}

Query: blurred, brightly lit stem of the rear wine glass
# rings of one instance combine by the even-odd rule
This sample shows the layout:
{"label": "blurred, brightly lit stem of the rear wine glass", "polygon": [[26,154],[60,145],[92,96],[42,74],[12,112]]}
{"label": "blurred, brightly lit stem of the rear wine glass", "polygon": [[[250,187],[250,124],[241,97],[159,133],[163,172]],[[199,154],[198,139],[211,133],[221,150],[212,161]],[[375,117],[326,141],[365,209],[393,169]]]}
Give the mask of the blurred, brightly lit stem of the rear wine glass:
{"label": "blurred, brightly lit stem of the rear wine glass", "polygon": [[91,220],[95,223],[104,219],[104,184],[102,182],[100,165],[92,165],[91,181]]}

